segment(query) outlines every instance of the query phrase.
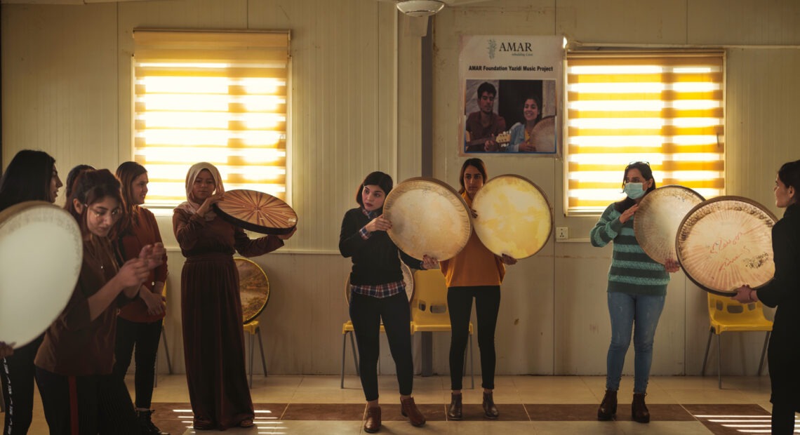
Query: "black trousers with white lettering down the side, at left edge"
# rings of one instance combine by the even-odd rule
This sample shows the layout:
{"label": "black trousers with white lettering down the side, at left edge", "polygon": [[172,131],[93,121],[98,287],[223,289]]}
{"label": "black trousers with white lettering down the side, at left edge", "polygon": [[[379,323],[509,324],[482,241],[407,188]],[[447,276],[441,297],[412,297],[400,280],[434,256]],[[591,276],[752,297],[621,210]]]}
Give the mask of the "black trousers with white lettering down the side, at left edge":
{"label": "black trousers with white lettering down the side, at left edge", "polygon": [[19,349],[14,355],[0,360],[2,400],[6,404],[3,435],[27,433],[34,412],[34,358],[44,335]]}

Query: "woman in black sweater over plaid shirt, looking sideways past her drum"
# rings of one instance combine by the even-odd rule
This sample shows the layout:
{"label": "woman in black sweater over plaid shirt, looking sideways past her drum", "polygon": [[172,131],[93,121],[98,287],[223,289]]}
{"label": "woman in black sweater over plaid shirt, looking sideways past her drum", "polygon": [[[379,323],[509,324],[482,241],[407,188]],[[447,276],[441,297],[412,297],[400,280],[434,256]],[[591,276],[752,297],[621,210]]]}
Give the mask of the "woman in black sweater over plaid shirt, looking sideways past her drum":
{"label": "woman in black sweater over plaid shirt, looking sideways past her drum", "polygon": [[414,383],[411,318],[400,257],[414,269],[434,269],[437,261],[426,255],[420,262],[399,250],[389,238],[386,230],[392,224],[382,213],[383,202],[391,190],[392,178],[388,174],[376,171],[367,175],[356,192],[358,208],[347,211],[339,234],[339,252],[353,259],[350,320],[361,356],[358,367],[367,402],[364,431],[368,433],[381,428],[377,371],[381,320],[397,369],[401,413],[414,426],[425,424],[425,416],[411,397]]}

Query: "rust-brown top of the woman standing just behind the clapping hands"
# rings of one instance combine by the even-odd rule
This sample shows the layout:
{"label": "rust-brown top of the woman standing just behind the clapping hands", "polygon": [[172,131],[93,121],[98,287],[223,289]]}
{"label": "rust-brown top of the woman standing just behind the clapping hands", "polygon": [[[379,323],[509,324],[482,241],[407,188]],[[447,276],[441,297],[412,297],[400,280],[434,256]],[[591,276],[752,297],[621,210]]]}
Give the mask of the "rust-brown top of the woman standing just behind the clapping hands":
{"label": "rust-brown top of the woman standing just behind the clapping hands", "polygon": [[[161,240],[161,233],[158,232],[158,224],[155,221],[155,216],[150,210],[144,209],[140,206],[134,206],[133,216],[130,219],[130,229],[122,237],[119,238],[119,250],[122,253],[123,260],[130,260],[136,258],[142,248],[146,245],[152,245]],[[162,258],[164,261],[162,265],[150,270],[150,276],[147,277],[144,285],[150,291],[153,291],[154,281],[166,282],[166,253]],[[138,322],[151,322],[162,319],[166,313],[160,316],[150,316],[147,313],[147,304],[141,297],[137,297],[119,312],[119,317],[129,321]]]}

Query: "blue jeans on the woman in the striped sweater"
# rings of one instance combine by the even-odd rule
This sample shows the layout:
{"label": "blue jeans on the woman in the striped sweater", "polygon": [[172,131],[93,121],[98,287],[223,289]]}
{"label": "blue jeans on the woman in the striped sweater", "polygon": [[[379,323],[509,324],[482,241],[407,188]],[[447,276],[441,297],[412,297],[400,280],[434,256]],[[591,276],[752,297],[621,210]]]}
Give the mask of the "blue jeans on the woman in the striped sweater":
{"label": "blue jeans on the woman in the striped sweater", "polygon": [[[658,317],[664,309],[665,296],[643,296],[628,293],[608,293],[608,312],[611,317],[611,345],[606,360],[606,389],[617,391],[622,377],[622,365],[634,333],[634,393],[646,393],[653,363],[653,339]],[[634,323],[636,328],[634,329]]]}

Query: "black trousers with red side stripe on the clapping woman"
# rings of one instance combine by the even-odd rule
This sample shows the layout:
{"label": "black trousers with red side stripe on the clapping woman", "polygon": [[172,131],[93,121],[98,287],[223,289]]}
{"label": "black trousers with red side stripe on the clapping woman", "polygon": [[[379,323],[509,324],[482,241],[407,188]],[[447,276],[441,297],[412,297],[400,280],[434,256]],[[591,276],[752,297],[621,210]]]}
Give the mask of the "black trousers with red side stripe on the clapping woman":
{"label": "black trousers with red side stripe on the clapping woman", "polygon": [[36,368],[50,435],[138,435],[134,404],[113,374],[63,376]]}

